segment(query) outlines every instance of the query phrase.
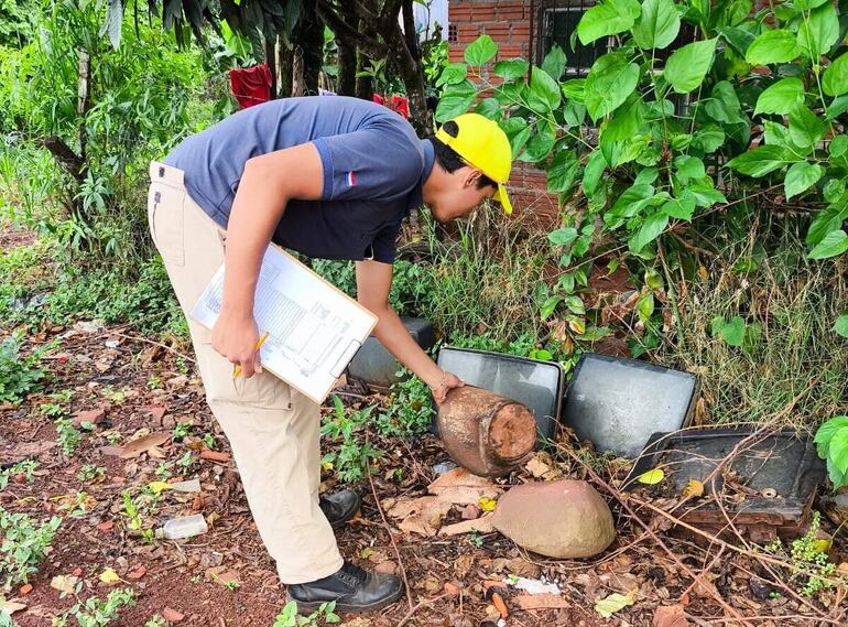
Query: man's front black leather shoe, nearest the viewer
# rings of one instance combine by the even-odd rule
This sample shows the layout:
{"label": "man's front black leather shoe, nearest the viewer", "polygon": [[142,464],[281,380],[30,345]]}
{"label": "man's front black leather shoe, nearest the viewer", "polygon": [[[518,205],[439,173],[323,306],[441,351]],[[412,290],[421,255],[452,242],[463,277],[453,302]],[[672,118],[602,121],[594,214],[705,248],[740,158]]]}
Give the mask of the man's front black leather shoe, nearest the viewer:
{"label": "man's front black leather shoe, nearest the viewer", "polygon": [[286,599],[297,603],[298,613],[318,609],[322,603],[336,602],[335,612],[359,614],[377,612],[398,601],[403,583],[394,575],[366,571],[345,562],[338,571],[309,583],[290,585]]}

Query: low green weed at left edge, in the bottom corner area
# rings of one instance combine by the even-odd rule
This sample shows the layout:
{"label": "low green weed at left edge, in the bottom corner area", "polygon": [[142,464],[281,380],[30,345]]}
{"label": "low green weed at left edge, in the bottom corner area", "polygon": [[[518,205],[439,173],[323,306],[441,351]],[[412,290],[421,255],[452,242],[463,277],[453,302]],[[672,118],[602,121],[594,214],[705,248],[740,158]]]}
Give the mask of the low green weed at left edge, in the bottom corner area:
{"label": "low green weed at left edge, in the bottom corner area", "polygon": [[62,519],[55,516],[36,525],[25,514],[9,514],[0,507],[0,576],[7,590],[26,583],[39,570],[59,525]]}

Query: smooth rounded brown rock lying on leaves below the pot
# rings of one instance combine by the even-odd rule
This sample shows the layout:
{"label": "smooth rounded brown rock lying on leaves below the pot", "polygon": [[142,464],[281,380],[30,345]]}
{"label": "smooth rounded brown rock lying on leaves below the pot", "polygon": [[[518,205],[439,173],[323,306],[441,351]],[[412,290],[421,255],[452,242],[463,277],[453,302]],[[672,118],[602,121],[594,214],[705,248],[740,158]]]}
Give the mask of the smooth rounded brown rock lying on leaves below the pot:
{"label": "smooth rounded brown rock lying on leaves below the pot", "polygon": [[607,501],[586,482],[563,479],[511,488],[498,500],[494,528],[550,558],[590,558],[616,539]]}

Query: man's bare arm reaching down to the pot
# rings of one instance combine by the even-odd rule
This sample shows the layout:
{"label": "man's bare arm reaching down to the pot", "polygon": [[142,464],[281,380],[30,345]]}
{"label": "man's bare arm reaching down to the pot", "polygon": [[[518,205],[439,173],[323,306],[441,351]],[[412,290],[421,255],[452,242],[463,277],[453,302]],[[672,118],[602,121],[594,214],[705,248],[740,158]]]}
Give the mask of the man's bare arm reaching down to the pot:
{"label": "man's bare arm reaching down to the pot", "polygon": [[430,358],[389,305],[392,266],[379,261],[358,261],[356,275],[359,302],[379,318],[374,328],[377,339],[433,390],[436,402],[444,401],[450,388],[464,386],[455,375],[443,371]]}

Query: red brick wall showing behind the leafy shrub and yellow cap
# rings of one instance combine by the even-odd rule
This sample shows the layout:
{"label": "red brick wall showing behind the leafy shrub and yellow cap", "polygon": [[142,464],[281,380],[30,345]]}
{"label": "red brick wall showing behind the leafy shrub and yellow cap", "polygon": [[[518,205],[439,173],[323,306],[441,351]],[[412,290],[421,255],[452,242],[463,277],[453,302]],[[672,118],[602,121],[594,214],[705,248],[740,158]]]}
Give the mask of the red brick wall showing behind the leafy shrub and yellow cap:
{"label": "red brick wall showing behind the leafy shrub and yellow cap", "polygon": [[[498,44],[494,61],[515,56],[530,58],[530,0],[452,0],[448,23],[450,32],[456,33],[456,41],[449,42],[452,62],[463,61],[465,47],[482,33]],[[556,196],[545,192],[543,171],[515,162],[509,188],[517,212],[532,214],[533,221],[545,223],[545,226],[556,219]]]}

